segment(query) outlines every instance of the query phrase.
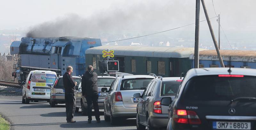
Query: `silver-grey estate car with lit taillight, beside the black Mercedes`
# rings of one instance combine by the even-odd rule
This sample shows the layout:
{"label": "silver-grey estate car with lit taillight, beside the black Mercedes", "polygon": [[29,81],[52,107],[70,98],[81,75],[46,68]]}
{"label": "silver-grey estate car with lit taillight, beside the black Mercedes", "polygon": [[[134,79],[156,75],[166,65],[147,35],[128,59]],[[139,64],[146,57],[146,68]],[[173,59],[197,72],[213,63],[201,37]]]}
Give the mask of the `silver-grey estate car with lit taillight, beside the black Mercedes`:
{"label": "silver-grey estate car with lit taillight, beside the black Mercedes", "polygon": [[166,128],[168,124],[168,109],[175,98],[182,77],[157,76],[144,90],[143,94],[136,93],[135,98],[141,98],[137,105],[137,130]]}

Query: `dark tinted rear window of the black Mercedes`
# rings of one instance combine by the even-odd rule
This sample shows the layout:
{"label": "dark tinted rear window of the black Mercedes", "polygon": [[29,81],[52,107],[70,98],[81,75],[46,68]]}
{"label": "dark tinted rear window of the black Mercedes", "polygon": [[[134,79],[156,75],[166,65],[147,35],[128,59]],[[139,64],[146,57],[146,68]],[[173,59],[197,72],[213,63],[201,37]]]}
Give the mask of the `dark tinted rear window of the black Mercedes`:
{"label": "dark tinted rear window of the black Mercedes", "polygon": [[[226,75],[230,76],[230,75]],[[196,76],[185,86],[188,100],[231,100],[238,97],[256,98],[256,77]]]}

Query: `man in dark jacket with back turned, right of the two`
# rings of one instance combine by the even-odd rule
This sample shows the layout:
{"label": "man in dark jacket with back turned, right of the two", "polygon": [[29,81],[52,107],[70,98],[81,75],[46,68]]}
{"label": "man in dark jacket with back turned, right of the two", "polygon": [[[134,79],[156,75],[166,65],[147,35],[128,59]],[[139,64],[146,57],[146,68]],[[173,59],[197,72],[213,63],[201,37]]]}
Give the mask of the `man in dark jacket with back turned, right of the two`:
{"label": "man in dark jacket with back turned, right of the two", "polygon": [[100,112],[98,105],[98,75],[93,71],[91,65],[88,66],[88,70],[82,77],[82,94],[85,96],[88,106],[88,123],[92,123],[92,104],[94,108],[95,118],[97,123],[100,123]]}

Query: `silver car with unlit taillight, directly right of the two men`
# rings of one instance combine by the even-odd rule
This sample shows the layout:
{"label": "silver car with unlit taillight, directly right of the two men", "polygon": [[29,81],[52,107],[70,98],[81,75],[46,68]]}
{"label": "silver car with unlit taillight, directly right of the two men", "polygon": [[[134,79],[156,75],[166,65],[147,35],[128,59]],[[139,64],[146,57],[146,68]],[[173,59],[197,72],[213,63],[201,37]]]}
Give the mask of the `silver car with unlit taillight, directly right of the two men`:
{"label": "silver car with unlit taillight, directly right of the two men", "polygon": [[116,124],[119,118],[135,118],[136,106],[139,98],[134,98],[134,93],[143,93],[148,83],[154,79],[149,75],[118,76],[112,83],[104,99],[104,118],[111,124]]}

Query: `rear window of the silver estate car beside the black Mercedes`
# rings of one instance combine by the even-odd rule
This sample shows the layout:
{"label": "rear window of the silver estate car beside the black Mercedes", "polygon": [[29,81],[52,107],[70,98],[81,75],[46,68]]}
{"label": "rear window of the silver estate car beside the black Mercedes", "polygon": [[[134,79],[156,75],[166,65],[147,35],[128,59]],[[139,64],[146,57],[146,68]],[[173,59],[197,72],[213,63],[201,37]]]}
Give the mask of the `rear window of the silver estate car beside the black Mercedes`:
{"label": "rear window of the silver estate car beside the black Mercedes", "polygon": [[161,87],[161,96],[175,96],[181,82],[163,82]]}

